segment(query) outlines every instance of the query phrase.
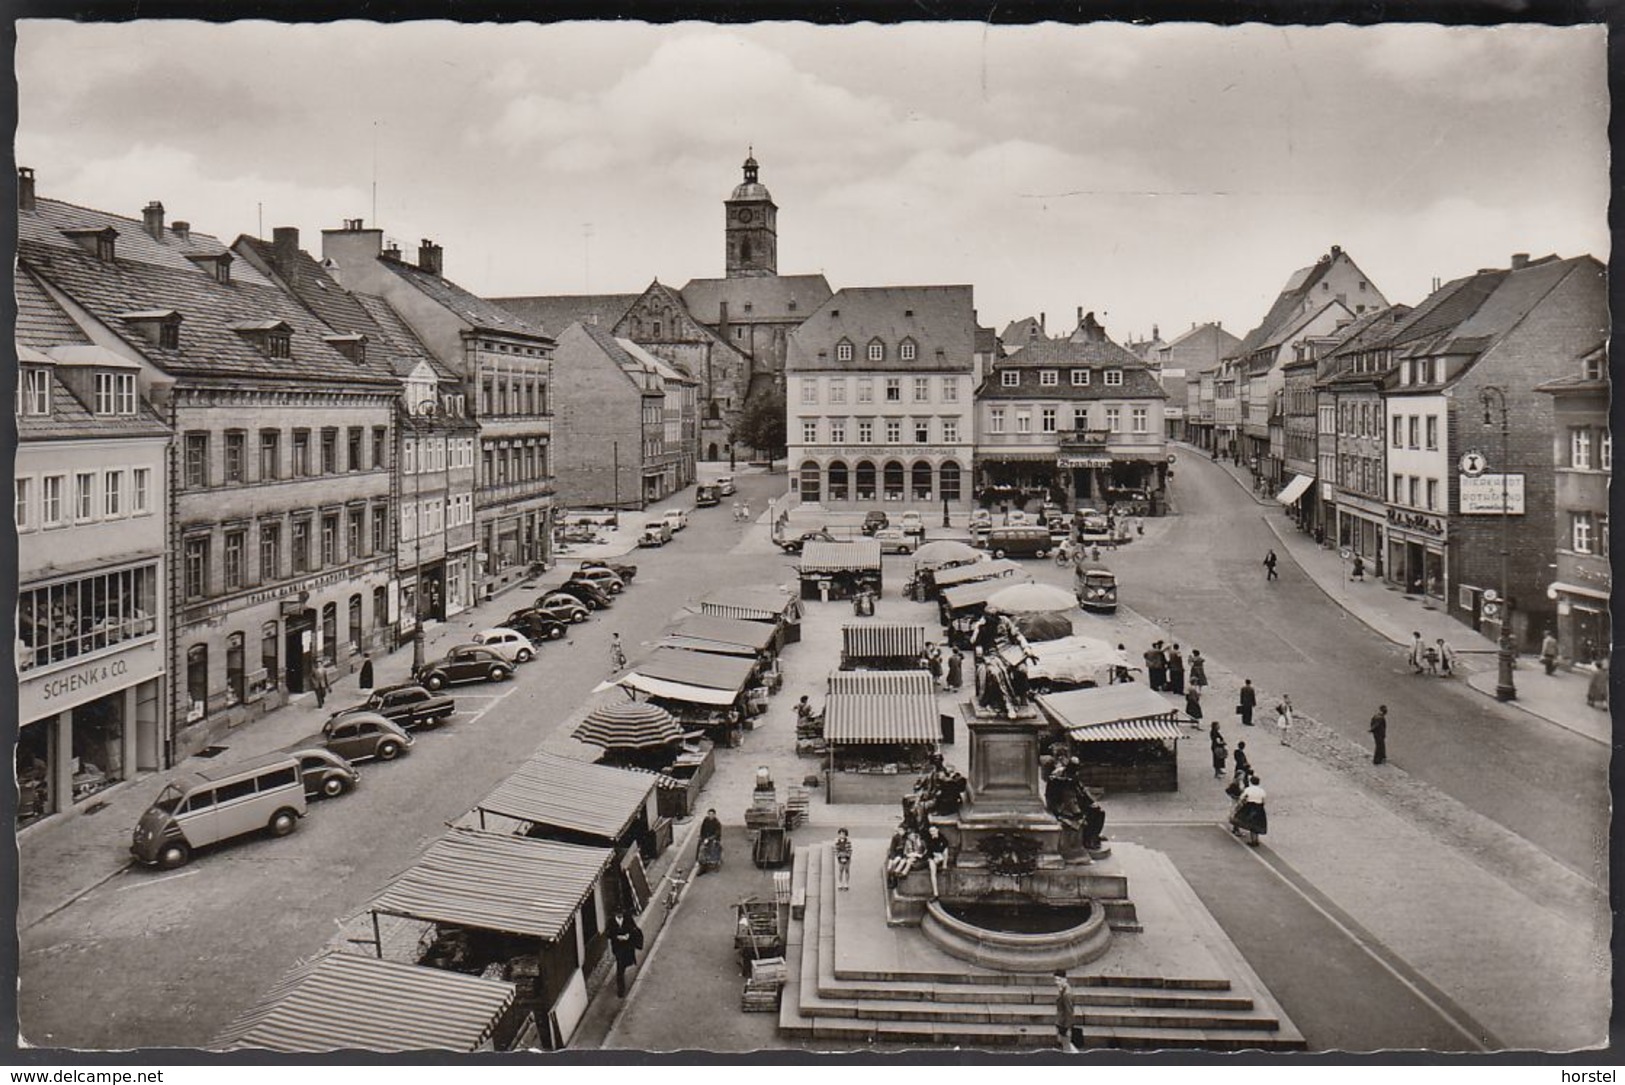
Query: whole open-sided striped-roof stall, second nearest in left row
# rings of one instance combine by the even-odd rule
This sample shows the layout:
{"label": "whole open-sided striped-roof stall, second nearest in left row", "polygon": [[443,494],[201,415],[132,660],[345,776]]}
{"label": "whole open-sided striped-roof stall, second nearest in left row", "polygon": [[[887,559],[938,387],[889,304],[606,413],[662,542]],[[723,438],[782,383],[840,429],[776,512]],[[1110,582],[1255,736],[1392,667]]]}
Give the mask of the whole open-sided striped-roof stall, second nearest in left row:
{"label": "whole open-sided striped-roof stall, second nearest in left row", "polygon": [[609,848],[453,828],[369,911],[379,958],[379,916],[432,924],[408,963],[515,984],[541,1046],[557,1049],[587,1010],[587,976],[608,950],[603,932],[621,901],[640,908],[647,885],[626,879]]}

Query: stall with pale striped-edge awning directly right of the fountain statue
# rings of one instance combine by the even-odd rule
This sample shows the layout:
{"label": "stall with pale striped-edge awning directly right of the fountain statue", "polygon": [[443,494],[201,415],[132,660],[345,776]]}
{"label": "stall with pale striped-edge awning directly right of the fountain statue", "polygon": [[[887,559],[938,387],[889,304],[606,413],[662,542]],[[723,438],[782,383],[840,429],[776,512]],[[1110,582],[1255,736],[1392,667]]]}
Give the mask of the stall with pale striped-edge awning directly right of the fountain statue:
{"label": "stall with pale striped-edge awning directly right of the fountain statue", "polygon": [[1037,698],[1082,763],[1082,780],[1105,791],[1178,791],[1180,739],[1188,716],[1139,682],[1045,694]]}

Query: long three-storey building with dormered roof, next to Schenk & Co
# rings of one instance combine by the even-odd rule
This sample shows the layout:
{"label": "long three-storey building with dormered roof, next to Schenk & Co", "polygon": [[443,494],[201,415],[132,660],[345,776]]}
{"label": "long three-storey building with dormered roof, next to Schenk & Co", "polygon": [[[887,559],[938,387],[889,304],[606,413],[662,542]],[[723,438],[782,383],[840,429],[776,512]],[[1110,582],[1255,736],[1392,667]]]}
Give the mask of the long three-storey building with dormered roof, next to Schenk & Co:
{"label": "long three-storey building with dormered roof, next to Schenk & Co", "polygon": [[171,383],[171,765],[387,640],[396,382],[156,201],[130,219],[24,175],[20,205],[20,270]]}

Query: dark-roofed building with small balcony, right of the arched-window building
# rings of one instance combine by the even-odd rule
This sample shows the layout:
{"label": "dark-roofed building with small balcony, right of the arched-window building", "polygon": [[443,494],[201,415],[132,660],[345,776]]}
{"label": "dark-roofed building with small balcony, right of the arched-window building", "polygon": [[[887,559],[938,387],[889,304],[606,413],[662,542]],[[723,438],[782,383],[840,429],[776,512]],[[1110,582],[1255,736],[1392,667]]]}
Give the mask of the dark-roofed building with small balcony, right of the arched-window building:
{"label": "dark-roofed building with small balcony, right of the arched-window building", "polygon": [[1087,313],[1066,339],[1034,339],[977,391],[977,499],[1064,508],[1139,500],[1160,513],[1167,393],[1152,369]]}

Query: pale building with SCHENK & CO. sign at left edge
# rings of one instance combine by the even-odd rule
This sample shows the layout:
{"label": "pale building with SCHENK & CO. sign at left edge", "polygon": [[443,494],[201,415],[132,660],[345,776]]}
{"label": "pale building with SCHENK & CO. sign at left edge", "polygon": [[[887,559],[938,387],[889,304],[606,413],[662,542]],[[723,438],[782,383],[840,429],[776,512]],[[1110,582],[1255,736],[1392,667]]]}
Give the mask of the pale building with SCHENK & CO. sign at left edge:
{"label": "pale building with SCHENK & CO. sign at left edge", "polygon": [[153,370],[94,346],[26,268],[16,354],[23,827],[164,765],[169,427]]}

